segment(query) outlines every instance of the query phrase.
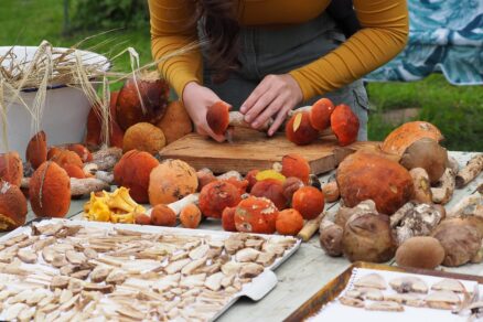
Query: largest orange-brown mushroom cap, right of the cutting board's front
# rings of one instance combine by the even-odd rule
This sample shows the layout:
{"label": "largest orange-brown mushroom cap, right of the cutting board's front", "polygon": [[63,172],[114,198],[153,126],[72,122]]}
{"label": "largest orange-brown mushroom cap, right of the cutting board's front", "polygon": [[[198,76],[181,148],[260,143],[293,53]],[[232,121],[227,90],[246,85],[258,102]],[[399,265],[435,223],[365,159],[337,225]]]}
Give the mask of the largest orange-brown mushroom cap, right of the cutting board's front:
{"label": "largest orange-brown mushroom cap, right of the cutting board's front", "polygon": [[336,181],[346,206],[373,200],[377,211],[387,215],[400,208],[414,194],[412,179],[407,169],[363,150],[341,162]]}

